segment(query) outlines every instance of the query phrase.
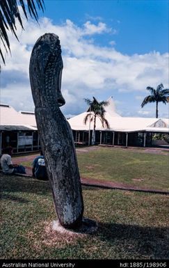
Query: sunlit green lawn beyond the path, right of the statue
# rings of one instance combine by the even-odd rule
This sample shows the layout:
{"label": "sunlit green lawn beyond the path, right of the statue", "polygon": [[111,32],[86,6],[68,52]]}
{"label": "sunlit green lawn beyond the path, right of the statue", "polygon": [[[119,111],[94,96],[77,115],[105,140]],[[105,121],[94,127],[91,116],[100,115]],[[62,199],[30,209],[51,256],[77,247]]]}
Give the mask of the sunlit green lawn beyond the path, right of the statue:
{"label": "sunlit green lawn beyond the path, right of the statue", "polygon": [[99,148],[78,153],[77,157],[82,178],[169,190],[169,152],[156,155],[153,151]]}

